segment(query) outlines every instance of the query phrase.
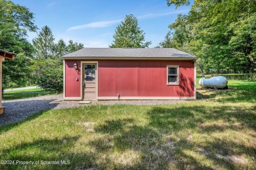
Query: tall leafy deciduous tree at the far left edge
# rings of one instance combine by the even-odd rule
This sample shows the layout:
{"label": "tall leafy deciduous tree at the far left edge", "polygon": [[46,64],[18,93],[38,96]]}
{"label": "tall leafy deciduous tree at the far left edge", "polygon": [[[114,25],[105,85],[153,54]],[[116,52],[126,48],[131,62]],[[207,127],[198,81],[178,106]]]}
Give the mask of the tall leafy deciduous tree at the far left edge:
{"label": "tall leafy deciduous tree at the far left edge", "polygon": [[22,86],[28,82],[33,48],[26,38],[27,32],[36,29],[28,8],[0,0],[0,49],[17,54],[14,60],[3,62],[3,89],[12,83]]}

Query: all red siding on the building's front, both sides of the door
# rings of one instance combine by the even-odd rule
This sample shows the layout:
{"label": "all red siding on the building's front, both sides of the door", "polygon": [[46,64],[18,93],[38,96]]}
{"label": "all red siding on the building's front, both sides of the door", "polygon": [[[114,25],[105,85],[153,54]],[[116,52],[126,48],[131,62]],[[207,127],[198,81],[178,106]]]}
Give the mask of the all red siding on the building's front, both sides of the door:
{"label": "all red siding on the building's front, both sides of the door", "polygon": [[[74,62],[79,73],[74,70]],[[66,60],[66,97],[79,97],[81,60]],[[167,65],[180,66],[180,85],[167,85]],[[79,81],[75,81],[78,78]],[[194,96],[194,63],[174,60],[98,60],[98,96]]]}

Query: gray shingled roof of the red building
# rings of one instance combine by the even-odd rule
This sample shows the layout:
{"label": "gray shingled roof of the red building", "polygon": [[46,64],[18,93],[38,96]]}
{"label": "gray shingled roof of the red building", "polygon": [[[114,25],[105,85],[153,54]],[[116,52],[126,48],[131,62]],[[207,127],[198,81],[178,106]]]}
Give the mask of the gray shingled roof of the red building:
{"label": "gray shingled roof of the red building", "polygon": [[62,58],[197,58],[173,48],[83,48]]}

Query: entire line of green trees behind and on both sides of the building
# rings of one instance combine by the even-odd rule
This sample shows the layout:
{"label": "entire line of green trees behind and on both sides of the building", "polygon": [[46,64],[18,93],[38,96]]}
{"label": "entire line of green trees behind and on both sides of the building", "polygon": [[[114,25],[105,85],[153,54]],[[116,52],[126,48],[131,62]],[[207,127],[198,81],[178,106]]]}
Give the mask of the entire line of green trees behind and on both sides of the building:
{"label": "entire line of green trees behind and on both sides of the building", "polygon": [[[190,5],[188,0],[167,0],[167,5]],[[39,30],[26,7],[0,0],[0,49],[16,53],[3,64],[3,88],[37,84],[62,91],[61,56],[83,48],[63,39],[54,43],[51,28]],[[202,74],[253,73],[256,47],[256,1],[194,1],[188,14],[179,14],[157,47],[175,48],[198,56]],[[28,32],[39,32],[30,43]],[[133,14],[116,27],[110,48],[146,48],[145,33]]]}

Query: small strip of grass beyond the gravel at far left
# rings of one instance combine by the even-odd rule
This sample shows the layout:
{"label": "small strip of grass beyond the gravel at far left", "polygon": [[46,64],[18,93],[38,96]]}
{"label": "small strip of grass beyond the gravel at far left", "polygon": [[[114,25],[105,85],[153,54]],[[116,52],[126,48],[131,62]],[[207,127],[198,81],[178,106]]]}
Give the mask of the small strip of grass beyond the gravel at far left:
{"label": "small strip of grass beyond the gravel at far left", "polygon": [[3,93],[3,100],[15,100],[51,94],[43,89],[26,89],[21,91],[8,91]]}

